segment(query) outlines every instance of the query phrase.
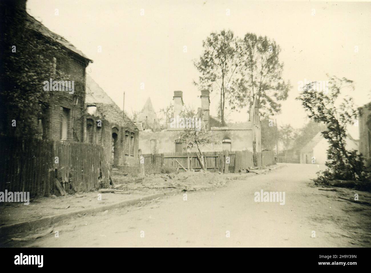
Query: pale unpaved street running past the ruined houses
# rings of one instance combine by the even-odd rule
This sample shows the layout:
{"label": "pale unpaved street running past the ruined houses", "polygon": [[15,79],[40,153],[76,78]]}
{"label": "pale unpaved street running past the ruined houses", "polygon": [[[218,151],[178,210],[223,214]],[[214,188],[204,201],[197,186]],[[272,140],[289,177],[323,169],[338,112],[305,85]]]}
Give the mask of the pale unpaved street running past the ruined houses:
{"label": "pale unpaved street running past the ruined houses", "polygon": [[[213,191],[185,192],[82,216],[21,246],[39,247],[354,247],[371,246],[370,206],[339,199],[309,178],[323,166],[286,164]],[[254,192],[285,192],[285,205],[255,202]],[[358,192],[359,199],[365,193]],[[315,232],[315,237],[312,235]],[[230,235],[229,237],[227,235]]]}

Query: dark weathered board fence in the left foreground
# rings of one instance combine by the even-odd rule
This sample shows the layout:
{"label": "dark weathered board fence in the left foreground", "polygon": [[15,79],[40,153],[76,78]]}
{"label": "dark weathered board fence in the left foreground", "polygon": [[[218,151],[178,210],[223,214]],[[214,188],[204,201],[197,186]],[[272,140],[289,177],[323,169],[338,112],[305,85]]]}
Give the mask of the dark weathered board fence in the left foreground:
{"label": "dark weathered board fence in the left foreground", "polygon": [[2,192],[48,196],[59,195],[58,186],[80,192],[109,185],[109,165],[99,145],[1,137],[0,152]]}

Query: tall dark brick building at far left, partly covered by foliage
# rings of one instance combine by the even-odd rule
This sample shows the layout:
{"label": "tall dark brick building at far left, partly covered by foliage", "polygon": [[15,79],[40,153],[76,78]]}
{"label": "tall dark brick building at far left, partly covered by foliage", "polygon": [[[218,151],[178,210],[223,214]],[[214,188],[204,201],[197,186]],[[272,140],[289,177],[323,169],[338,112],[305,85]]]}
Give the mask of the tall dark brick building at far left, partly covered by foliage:
{"label": "tall dark brick building at far left, partly covered by foliage", "polygon": [[[27,116],[29,116],[27,112],[23,113],[21,118],[21,113],[13,112],[14,108],[12,109],[12,105],[5,105],[6,109],[2,113],[3,117],[6,116],[11,120],[18,119],[18,124],[14,128],[4,126],[1,131],[5,135],[13,133],[19,137],[24,133],[24,129],[31,124],[31,126],[36,127],[38,138],[83,141],[82,116],[85,99],[85,69],[89,63],[92,63],[92,60],[65,40],[65,38],[53,33],[34,17],[30,16],[26,12],[26,0],[7,1],[7,3],[3,4],[1,11],[4,13],[4,17],[1,24],[4,31],[2,36],[4,39],[1,39],[1,46],[8,47],[7,43],[14,44],[14,46],[6,48],[6,50],[10,51],[13,48],[13,52],[8,55],[13,54],[17,58],[17,61],[14,63],[12,63],[11,59],[9,59],[10,61],[8,59],[2,60],[7,64],[6,69],[10,70],[7,73],[9,76],[4,75],[6,78],[2,79],[3,88],[14,94],[23,92],[27,87],[16,82],[18,79],[12,78],[12,75],[24,73],[26,81],[35,78],[36,90],[30,91],[36,94],[48,92],[48,96],[41,95],[39,101],[32,101],[31,97],[29,97],[30,106],[34,104],[42,105],[40,112],[36,113],[35,117],[32,116],[35,120],[27,120]],[[12,25],[12,20],[9,20],[9,18],[14,19],[14,25]],[[25,38],[25,34],[27,34],[27,38]],[[36,43],[43,46],[42,50],[30,48]],[[38,58],[37,56],[39,56],[40,63],[34,63],[34,60]],[[41,62],[42,60],[44,60],[44,63]],[[21,68],[23,71],[19,71],[19,68],[16,67],[20,61],[23,62]],[[45,65],[47,67],[43,67]],[[42,68],[40,69],[40,67]],[[46,73],[41,74],[42,69]],[[12,70],[14,70],[14,73],[12,73]],[[7,71],[3,72],[6,73]],[[61,75],[64,75],[64,77],[61,78]],[[49,81],[50,79],[53,81],[73,82],[74,90],[72,92],[68,90],[43,90],[43,81]],[[19,86],[21,90],[10,90],[14,86]],[[25,100],[27,101],[27,98]],[[19,111],[16,109],[14,111]]]}

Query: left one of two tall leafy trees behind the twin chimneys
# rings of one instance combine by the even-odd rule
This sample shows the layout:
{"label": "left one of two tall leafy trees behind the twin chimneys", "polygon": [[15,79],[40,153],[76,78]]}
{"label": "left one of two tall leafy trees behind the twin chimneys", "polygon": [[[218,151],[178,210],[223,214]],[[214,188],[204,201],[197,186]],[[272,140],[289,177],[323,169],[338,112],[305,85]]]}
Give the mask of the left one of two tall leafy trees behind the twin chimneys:
{"label": "left one of two tall leafy trees behind the twin chimneys", "polygon": [[[223,126],[226,99],[229,97],[231,84],[237,76],[237,68],[241,65],[238,39],[231,30],[213,32],[203,41],[203,54],[193,64],[200,72],[198,82],[194,85],[200,90],[218,91],[220,94],[219,112]],[[236,88],[234,88],[236,89]]]}

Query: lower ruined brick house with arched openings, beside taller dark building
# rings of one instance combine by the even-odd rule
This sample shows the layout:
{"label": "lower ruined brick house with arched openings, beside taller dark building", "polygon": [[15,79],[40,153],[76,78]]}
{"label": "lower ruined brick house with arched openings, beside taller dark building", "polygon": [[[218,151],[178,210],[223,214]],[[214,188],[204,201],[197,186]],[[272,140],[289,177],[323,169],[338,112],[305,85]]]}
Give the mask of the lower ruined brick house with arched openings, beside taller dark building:
{"label": "lower ruined brick house with arched openings, beside taller dark building", "polygon": [[137,164],[137,125],[127,114],[124,117],[118,105],[89,75],[86,75],[85,108],[85,142],[102,145],[112,166]]}

